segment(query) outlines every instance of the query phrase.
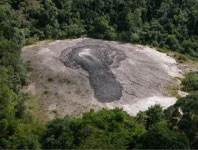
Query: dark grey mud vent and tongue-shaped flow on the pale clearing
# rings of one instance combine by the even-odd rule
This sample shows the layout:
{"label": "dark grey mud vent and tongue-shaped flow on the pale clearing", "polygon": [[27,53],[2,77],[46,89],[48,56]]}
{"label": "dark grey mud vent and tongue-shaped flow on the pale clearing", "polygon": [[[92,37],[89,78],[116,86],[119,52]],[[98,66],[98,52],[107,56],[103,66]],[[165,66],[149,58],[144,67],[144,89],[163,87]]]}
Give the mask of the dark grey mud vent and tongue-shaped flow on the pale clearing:
{"label": "dark grey mud vent and tongue-shaped flow on the pale clearing", "polygon": [[125,54],[108,45],[85,45],[65,49],[61,60],[67,67],[81,67],[89,73],[90,85],[95,97],[101,102],[119,100],[122,96],[122,86],[111,71],[112,64],[117,66],[125,58]]}

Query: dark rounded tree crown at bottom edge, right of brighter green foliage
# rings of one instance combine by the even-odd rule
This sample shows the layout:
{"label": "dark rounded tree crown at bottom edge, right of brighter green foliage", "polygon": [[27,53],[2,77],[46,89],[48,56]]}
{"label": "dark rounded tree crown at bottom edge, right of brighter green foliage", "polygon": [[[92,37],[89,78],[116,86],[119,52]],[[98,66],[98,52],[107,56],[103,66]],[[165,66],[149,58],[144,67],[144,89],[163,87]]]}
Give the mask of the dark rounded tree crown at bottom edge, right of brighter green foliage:
{"label": "dark rounded tree crown at bottom edge, right of brighter green foliage", "polygon": [[188,149],[189,140],[178,131],[170,130],[165,123],[153,126],[140,139],[141,149]]}

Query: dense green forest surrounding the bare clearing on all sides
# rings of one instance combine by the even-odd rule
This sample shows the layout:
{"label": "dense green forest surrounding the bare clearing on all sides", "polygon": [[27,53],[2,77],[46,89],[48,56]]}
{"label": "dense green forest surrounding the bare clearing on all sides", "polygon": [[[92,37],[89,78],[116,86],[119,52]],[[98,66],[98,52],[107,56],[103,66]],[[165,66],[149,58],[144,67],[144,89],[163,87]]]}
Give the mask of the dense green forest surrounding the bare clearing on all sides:
{"label": "dense green forest surrounding the bare clearing on all sides", "polygon": [[43,39],[93,37],[178,51],[198,58],[197,0],[0,0],[0,148],[198,148],[198,74],[189,96],[135,117],[121,109],[43,124],[26,109],[21,47]]}

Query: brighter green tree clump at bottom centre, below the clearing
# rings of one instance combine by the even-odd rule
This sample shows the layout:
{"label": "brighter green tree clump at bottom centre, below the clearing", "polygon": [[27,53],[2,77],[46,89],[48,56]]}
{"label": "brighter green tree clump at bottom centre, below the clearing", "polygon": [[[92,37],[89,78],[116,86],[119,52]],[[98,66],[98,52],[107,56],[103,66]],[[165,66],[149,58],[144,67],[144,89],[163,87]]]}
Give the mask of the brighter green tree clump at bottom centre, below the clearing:
{"label": "brighter green tree clump at bottom centre, below the clearing", "polygon": [[90,111],[82,118],[64,118],[52,121],[44,136],[44,148],[61,149],[126,149],[135,146],[145,132],[120,109]]}

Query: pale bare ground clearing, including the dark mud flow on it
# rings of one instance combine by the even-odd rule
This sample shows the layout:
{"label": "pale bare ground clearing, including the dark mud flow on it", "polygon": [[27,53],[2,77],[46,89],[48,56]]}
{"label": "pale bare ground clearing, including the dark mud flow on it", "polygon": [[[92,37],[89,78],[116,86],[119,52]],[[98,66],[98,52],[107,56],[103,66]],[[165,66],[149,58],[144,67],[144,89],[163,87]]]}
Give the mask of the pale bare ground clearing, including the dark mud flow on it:
{"label": "pale bare ground clearing, including the dark mud flow on it", "polygon": [[90,109],[121,107],[135,115],[176,102],[168,88],[182,71],[172,58],[147,46],[94,39],[43,41],[23,48],[30,83],[46,120]]}

